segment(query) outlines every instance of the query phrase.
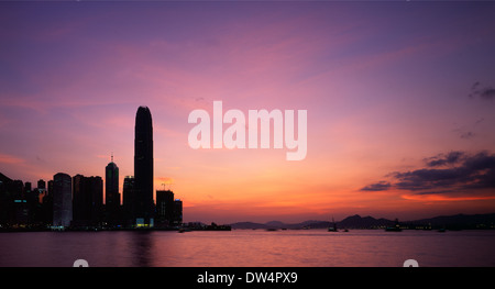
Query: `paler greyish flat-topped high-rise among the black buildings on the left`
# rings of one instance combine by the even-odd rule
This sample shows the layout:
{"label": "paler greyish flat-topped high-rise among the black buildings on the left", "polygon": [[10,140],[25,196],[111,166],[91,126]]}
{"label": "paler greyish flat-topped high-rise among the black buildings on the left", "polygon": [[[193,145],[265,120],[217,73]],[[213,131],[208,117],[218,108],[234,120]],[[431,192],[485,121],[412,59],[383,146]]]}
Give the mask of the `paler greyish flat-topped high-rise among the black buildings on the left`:
{"label": "paler greyish flat-topped high-rise among the black buildings on the left", "polygon": [[69,226],[73,220],[73,188],[69,175],[53,176],[53,225]]}

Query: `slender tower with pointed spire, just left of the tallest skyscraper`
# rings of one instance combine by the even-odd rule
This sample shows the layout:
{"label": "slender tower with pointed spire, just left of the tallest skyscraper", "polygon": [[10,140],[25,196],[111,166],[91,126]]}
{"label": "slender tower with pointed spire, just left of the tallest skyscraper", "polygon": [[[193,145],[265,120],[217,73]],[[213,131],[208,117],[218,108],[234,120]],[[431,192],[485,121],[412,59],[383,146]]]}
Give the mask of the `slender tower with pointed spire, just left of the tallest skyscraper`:
{"label": "slender tower with pointed spire, just left of the tallest skyscraper", "polygon": [[111,162],[105,168],[105,207],[108,220],[114,222],[119,218],[120,193],[119,193],[119,167]]}

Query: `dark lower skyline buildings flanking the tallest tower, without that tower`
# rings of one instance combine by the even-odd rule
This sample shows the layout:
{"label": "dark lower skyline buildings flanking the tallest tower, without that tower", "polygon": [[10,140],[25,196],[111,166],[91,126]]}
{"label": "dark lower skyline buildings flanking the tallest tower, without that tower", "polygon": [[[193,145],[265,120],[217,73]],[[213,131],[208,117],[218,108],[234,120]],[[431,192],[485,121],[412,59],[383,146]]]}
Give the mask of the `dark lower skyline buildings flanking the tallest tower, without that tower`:
{"label": "dark lower skyline buildings flanking the tallest tower, without that tower", "polygon": [[[114,163],[109,166],[118,167]],[[110,173],[107,166],[107,177]],[[118,174],[118,173],[117,173]],[[118,175],[117,175],[118,179]],[[133,229],[178,227],[183,223],[183,202],[174,199],[170,190],[157,190],[153,203],[151,222],[133,213],[130,203],[135,193],[133,176],[127,176],[123,185],[123,202],[117,189],[109,189],[109,179],[99,176],[85,177],[58,173],[53,180],[31,182],[12,180],[0,174],[0,227],[1,229]],[[114,198],[114,199],[112,199]]]}

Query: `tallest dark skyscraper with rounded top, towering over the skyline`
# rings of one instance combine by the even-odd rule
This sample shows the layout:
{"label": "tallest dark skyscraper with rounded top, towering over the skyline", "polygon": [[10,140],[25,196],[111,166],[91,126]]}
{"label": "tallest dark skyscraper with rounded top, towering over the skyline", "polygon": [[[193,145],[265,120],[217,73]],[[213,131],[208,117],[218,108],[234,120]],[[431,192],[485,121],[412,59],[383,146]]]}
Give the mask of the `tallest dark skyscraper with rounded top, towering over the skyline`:
{"label": "tallest dark skyscraper with rounded top, towering over the skyline", "polygon": [[134,127],[134,213],[138,226],[152,226],[153,209],[153,124],[150,109],[140,107]]}

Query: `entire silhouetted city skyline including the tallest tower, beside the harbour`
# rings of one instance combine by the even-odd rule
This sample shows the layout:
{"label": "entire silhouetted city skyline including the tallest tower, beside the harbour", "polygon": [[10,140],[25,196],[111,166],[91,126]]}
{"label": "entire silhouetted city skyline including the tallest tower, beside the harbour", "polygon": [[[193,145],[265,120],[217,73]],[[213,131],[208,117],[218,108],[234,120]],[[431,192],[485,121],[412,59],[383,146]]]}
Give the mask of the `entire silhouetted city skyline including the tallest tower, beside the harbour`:
{"label": "entire silhouetted city skyline including the tallest tower, beside the harbour", "polygon": [[[153,200],[153,126],[150,109],[140,107],[135,120],[134,176],[119,192],[119,167],[113,156],[99,176],[58,173],[47,184],[12,180],[0,174],[2,229],[134,229],[176,227],[183,222],[183,202],[170,190],[157,190]],[[122,199],[122,203],[121,203]]]}

